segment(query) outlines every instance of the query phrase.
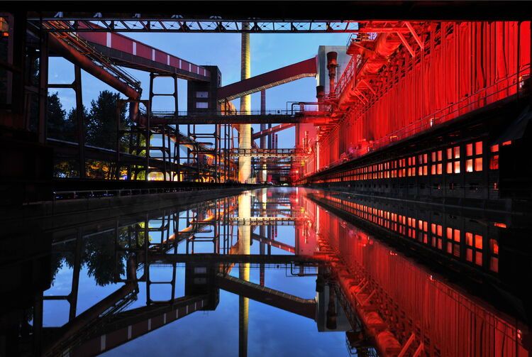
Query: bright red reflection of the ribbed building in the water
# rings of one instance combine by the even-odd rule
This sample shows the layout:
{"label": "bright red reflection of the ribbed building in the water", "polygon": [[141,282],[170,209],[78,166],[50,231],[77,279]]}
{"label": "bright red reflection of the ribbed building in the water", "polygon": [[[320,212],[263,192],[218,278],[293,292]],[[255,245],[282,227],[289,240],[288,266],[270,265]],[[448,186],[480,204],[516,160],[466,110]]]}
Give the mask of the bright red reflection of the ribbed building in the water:
{"label": "bright red reflection of the ribbed building in the water", "polygon": [[318,246],[340,258],[333,273],[343,294],[384,356],[403,348],[404,356],[530,356],[528,328],[516,319],[326,209],[304,205],[316,214]]}

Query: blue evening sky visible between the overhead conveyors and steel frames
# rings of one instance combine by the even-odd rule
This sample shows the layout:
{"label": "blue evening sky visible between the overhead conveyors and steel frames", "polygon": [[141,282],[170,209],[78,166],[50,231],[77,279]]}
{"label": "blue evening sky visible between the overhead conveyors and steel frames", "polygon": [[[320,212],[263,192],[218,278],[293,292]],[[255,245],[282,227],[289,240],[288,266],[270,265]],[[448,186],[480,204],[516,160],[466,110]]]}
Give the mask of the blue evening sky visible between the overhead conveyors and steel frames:
{"label": "blue evening sky visible between the overhead conveyors and steel frames", "polygon": [[[128,37],[142,41],[167,53],[191,61],[196,65],[217,65],[221,70],[222,85],[238,82],[240,79],[240,34],[235,33],[126,33]],[[319,45],[345,45],[348,33],[331,34],[252,34],[251,46],[251,75],[275,70],[294,62],[314,57],[318,53]],[[143,87],[143,99],[148,99],[149,74],[138,70],[126,69],[133,77],[140,80]],[[50,60],[50,83],[68,83],[74,79],[74,71],[70,62],[62,58]],[[83,101],[89,108],[90,101],[99,92],[111,89],[103,82],[83,72]],[[171,82],[159,79],[155,82],[157,92],[172,92]],[[74,92],[70,89],[50,89],[59,92],[65,109],[74,106]],[[116,92],[116,91],[114,91]],[[187,109],[187,82],[179,80],[179,111]],[[279,87],[267,89],[267,109],[284,109],[287,101],[315,101],[316,79],[303,78],[295,82],[283,84]],[[161,97],[160,97],[161,98]],[[233,101],[239,106],[238,99]],[[159,99],[153,104],[154,110],[173,111],[170,101]],[[260,93],[253,94],[252,109],[260,109]],[[254,126],[258,131],[258,125]],[[294,146],[294,128],[279,132],[279,148]]]}

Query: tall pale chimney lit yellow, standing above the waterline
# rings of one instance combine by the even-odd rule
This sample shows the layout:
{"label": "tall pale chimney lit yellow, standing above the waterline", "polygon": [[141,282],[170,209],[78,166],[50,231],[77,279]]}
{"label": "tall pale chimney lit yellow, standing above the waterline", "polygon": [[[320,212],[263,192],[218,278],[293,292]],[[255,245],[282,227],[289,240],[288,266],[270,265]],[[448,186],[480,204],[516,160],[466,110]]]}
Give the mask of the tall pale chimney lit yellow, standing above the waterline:
{"label": "tall pale chimney lit yellow, standing above the waterline", "polygon": [[[250,28],[249,23],[242,24],[243,30]],[[250,34],[242,33],[242,47],[240,49],[240,79],[248,79],[251,77],[250,66]],[[240,112],[241,114],[249,114],[251,110],[251,97],[246,95],[240,98]],[[238,148],[251,148],[251,124],[240,124],[240,131],[238,133]],[[238,158],[238,181],[240,183],[251,182],[251,156],[240,156]]]}

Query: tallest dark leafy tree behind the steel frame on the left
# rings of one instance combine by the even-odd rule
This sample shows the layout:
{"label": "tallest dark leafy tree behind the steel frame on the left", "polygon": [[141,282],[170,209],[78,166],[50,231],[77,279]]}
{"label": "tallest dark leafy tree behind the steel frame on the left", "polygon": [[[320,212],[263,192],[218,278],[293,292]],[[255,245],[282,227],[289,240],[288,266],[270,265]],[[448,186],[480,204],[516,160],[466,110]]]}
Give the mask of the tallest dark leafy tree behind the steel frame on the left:
{"label": "tallest dark leafy tree behind the steel frame on the left", "polygon": [[[99,148],[116,148],[116,108],[120,94],[104,90],[91,101],[87,116],[87,143]],[[121,123],[126,123],[126,106],[120,111]],[[123,125],[121,125],[123,126]]]}

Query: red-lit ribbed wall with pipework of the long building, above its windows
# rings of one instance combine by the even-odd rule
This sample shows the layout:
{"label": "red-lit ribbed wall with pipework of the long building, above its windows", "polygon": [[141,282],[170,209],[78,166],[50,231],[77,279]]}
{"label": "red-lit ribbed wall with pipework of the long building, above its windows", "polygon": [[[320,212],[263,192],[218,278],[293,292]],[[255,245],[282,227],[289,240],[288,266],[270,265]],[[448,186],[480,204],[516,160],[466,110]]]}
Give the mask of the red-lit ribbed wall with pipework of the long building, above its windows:
{"label": "red-lit ribbed wall with pipework of the long building, above its windows", "polygon": [[519,96],[527,87],[530,21],[386,26],[403,30],[377,33],[361,26],[350,38],[353,57],[325,99],[333,104],[333,125],[319,127],[307,175]]}

